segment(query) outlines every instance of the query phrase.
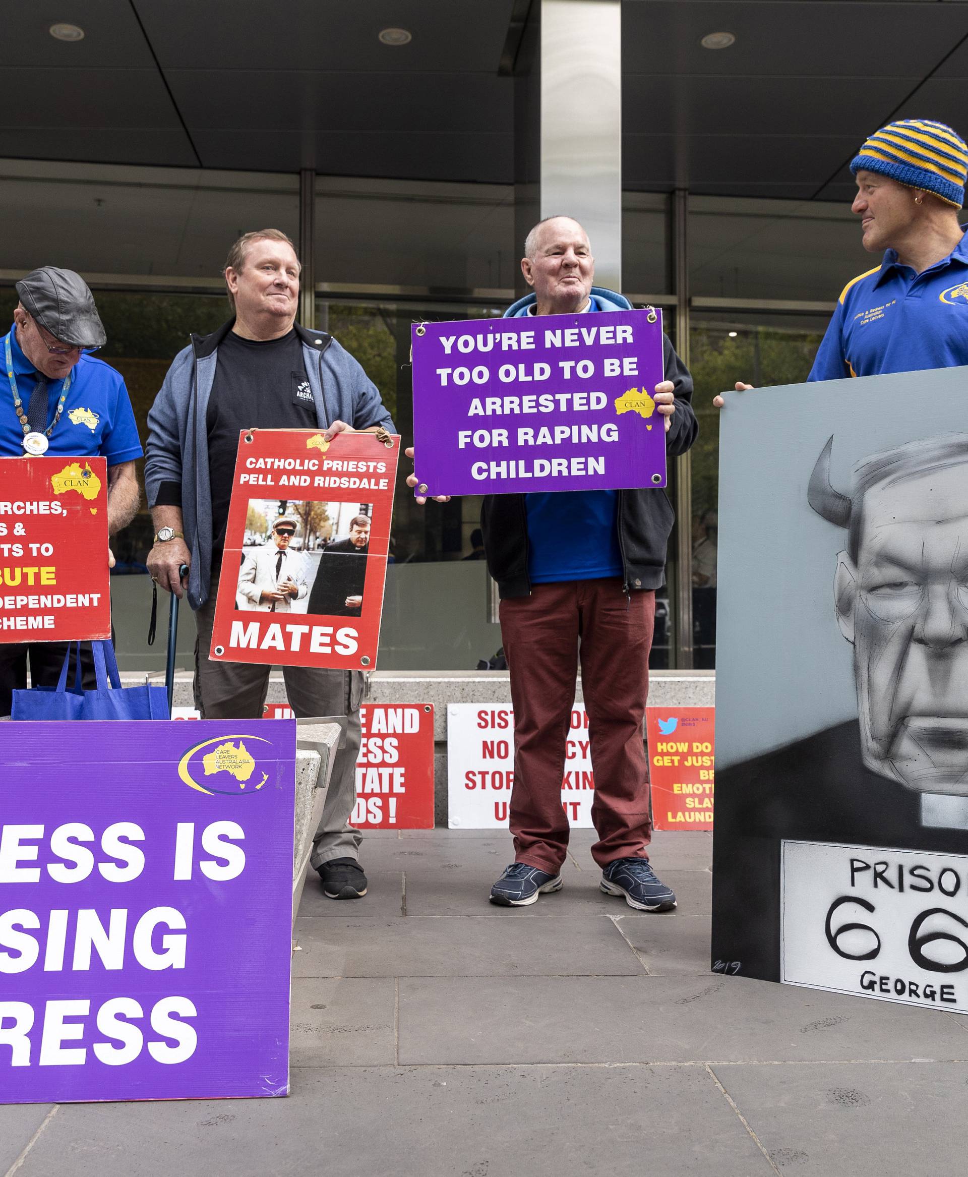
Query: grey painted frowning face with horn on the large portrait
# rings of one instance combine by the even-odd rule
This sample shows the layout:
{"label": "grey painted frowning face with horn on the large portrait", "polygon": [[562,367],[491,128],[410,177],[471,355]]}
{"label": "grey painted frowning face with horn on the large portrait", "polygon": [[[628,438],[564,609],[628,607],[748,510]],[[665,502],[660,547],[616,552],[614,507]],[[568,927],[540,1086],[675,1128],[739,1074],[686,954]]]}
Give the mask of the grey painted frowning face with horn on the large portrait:
{"label": "grey painted frowning face with horn on the large portrait", "polygon": [[830,485],[833,441],[807,498],[848,532],[834,597],[863,762],[919,792],[968,796],[968,434],[864,459],[850,496]]}

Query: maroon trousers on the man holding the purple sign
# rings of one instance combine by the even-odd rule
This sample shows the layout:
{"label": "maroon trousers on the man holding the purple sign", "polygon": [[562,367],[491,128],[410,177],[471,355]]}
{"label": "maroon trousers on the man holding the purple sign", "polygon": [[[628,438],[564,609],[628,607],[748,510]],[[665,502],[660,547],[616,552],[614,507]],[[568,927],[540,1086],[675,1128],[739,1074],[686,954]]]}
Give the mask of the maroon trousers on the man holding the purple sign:
{"label": "maroon trousers on the man holding the purple sign", "polygon": [[600,866],[647,858],[652,836],[642,724],[655,593],[622,592],[617,577],[534,585],[501,601],[501,637],[514,704],[514,857],[556,875],[568,849],[561,805],[565,742],[581,684],[588,712]]}

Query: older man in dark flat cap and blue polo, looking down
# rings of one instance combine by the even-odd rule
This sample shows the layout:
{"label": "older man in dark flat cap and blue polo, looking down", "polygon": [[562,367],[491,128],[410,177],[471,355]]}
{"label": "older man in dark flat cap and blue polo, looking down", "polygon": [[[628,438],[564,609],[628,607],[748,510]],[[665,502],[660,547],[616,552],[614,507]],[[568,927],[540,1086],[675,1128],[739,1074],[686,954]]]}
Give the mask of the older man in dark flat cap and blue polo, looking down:
{"label": "older man in dark flat cap and blue polo, looking down", "polygon": [[[27,274],[16,293],[13,326],[0,340],[8,384],[0,394],[0,457],[107,458],[113,536],[138,511],[141,444],[121,374],[92,355],[107,338],[94,298],[79,274],[55,266]],[[56,641],[0,645],[0,716],[9,714],[11,692],[27,685],[28,658],[33,685],[49,686],[66,651]]]}

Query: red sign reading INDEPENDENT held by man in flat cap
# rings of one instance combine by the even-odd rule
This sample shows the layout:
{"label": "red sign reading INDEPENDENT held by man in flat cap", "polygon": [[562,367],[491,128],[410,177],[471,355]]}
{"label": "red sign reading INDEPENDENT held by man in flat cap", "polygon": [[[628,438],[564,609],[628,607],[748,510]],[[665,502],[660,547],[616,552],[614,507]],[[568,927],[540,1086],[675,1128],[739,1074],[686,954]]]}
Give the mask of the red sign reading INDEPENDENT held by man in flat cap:
{"label": "red sign reading INDEPENDENT held by man in flat cap", "polygon": [[107,461],[0,458],[0,641],[111,637]]}

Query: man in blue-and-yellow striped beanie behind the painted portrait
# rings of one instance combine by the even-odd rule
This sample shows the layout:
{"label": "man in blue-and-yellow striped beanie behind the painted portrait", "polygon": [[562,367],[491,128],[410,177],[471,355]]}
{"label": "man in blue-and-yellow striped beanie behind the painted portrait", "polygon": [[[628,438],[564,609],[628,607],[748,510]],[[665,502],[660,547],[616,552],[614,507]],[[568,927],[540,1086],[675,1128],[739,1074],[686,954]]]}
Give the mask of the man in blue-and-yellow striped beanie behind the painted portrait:
{"label": "man in blue-and-yellow striped beanie behind the painted portrait", "polygon": [[959,222],[968,147],[942,122],[904,119],[850,162],[863,247],[883,261],[849,281],[809,380],[968,364],[968,242]]}

